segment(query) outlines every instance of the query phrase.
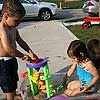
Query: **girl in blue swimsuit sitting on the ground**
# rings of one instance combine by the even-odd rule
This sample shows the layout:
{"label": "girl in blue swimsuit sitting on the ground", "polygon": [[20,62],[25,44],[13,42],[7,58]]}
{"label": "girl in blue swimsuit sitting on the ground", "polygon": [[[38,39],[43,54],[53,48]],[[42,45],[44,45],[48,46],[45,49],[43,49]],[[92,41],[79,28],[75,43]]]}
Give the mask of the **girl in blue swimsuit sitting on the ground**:
{"label": "girl in blue swimsuit sitting on the ground", "polygon": [[68,47],[67,54],[73,60],[73,64],[63,78],[63,85],[66,85],[66,81],[75,70],[79,80],[69,82],[64,93],[68,96],[77,96],[86,92],[95,92],[99,74],[89,59],[85,44],[80,40],[72,41]]}

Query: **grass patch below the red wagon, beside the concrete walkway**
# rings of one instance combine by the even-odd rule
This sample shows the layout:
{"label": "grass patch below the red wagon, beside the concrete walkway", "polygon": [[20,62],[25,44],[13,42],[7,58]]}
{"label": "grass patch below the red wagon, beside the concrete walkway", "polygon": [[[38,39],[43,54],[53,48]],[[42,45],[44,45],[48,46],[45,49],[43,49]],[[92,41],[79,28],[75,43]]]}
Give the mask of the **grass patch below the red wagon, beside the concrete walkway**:
{"label": "grass patch below the red wagon, beside the concrete walkway", "polygon": [[73,32],[73,34],[82,40],[83,42],[87,43],[89,39],[99,39],[100,40],[100,24],[92,25],[88,29],[82,28],[81,25],[72,25],[67,26],[67,28]]}

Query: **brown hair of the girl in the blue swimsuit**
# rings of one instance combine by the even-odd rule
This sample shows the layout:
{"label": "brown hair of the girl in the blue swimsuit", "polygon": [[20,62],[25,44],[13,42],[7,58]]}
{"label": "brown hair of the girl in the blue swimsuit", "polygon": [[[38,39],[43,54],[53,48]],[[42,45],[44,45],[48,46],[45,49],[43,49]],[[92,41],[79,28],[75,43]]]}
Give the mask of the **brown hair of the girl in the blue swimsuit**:
{"label": "brown hair of the girl in the blue swimsuit", "polygon": [[86,45],[80,40],[74,40],[70,43],[67,54],[69,57],[75,56],[79,62],[82,62],[89,57]]}

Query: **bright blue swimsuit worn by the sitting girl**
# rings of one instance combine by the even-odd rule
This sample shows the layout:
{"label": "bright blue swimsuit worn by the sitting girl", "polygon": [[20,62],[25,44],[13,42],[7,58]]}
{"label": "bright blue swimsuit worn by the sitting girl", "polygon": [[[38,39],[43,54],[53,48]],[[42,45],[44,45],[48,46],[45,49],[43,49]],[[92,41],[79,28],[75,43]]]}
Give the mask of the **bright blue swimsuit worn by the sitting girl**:
{"label": "bright blue swimsuit worn by the sitting girl", "polygon": [[[77,74],[80,80],[80,84],[83,86],[90,84],[93,79],[93,75],[79,65],[77,65]],[[93,89],[96,90],[96,85],[93,85]]]}

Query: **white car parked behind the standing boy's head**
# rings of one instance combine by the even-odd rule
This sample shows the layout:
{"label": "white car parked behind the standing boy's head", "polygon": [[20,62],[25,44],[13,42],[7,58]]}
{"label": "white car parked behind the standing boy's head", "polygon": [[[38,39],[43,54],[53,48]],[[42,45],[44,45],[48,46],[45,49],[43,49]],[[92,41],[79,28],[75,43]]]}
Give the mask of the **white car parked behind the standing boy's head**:
{"label": "white car parked behind the standing boy's head", "polygon": [[[26,10],[25,18],[40,17],[41,20],[47,21],[59,12],[59,8],[55,3],[37,0],[20,0],[20,2]],[[2,3],[0,4],[0,9],[2,9]]]}

